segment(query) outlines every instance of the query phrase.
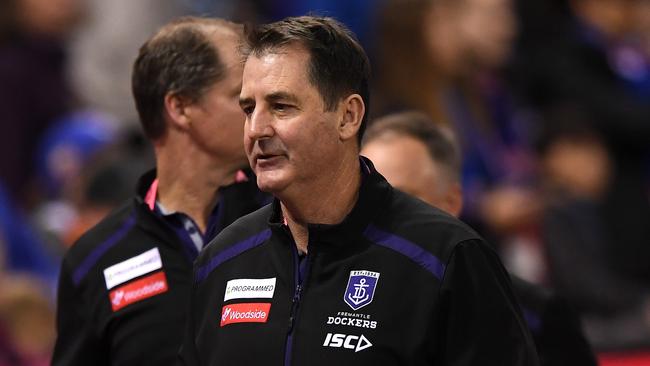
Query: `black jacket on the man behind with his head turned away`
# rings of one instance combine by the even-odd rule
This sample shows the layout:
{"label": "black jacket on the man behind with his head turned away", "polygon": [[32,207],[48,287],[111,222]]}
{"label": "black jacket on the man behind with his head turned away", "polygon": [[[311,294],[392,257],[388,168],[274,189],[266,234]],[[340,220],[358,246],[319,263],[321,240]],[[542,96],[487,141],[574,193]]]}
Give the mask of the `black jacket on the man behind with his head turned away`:
{"label": "black jacket on the man behind with his head turned away", "polygon": [[[171,365],[182,340],[192,258],[167,222],[134,200],[89,230],[66,254],[57,299],[53,365]],[[261,206],[255,179],[220,190],[217,231]],[[117,265],[117,267],[113,267]],[[109,289],[110,287],[110,289]]]}

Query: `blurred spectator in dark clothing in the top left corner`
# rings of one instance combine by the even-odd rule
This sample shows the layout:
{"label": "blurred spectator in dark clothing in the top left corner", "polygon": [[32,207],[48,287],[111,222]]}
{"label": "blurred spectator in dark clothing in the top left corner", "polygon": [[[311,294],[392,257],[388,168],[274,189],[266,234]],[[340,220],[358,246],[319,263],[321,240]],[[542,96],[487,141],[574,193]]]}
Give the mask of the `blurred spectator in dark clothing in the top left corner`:
{"label": "blurred spectator in dark clothing in the top left corner", "polygon": [[22,208],[33,204],[36,144],[73,107],[65,40],[79,0],[5,0],[0,5],[0,179]]}

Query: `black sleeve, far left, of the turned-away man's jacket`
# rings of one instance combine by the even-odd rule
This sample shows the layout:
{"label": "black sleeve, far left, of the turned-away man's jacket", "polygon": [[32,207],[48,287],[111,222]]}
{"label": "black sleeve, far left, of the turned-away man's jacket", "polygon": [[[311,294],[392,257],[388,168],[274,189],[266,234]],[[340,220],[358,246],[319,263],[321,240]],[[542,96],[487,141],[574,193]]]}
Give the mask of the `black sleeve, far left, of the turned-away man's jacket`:
{"label": "black sleeve, far left, of the turned-away man's jacket", "polygon": [[107,357],[87,319],[87,307],[63,262],[57,292],[57,339],[52,366],[105,365]]}

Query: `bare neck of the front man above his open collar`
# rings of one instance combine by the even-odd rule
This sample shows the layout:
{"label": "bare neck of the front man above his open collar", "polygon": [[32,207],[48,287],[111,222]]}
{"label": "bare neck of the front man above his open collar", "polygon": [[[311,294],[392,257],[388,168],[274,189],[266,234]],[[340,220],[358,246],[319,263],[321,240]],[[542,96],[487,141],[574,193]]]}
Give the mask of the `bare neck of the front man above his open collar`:
{"label": "bare neck of the front man above his open collar", "polygon": [[298,187],[280,197],[282,214],[291,230],[298,250],[306,253],[309,242],[308,224],[338,224],[357,202],[361,173],[359,158],[350,156],[334,174],[309,187]]}

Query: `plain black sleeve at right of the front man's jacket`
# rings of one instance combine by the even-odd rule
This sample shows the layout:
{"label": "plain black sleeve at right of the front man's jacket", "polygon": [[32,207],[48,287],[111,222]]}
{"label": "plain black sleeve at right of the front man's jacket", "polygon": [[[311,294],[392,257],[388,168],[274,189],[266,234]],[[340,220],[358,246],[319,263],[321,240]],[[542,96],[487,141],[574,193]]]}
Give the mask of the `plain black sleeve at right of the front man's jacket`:
{"label": "plain black sleeve at right of the front man's jacket", "polygon": [[478,240],[456,246],[440,287],[437,365],[537,366],[532,336],[496,253]]}

